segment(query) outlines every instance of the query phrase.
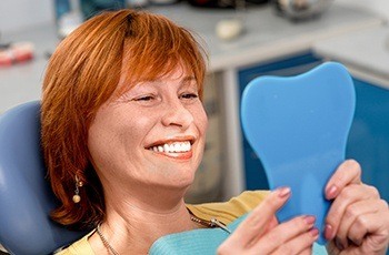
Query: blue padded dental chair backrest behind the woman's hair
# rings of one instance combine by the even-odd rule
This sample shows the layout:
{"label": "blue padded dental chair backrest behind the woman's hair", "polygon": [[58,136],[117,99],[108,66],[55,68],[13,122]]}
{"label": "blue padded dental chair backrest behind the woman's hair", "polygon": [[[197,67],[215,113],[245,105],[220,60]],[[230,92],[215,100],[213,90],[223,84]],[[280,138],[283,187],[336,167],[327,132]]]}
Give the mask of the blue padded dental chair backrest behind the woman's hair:
{"label": "blue padded dental chair backrest behind the woman's hair", "polygon": [[0,116],[0,244],[11,254],[49,254],[84,233],[49,218],[56,198],[40,152],[40,102]]}

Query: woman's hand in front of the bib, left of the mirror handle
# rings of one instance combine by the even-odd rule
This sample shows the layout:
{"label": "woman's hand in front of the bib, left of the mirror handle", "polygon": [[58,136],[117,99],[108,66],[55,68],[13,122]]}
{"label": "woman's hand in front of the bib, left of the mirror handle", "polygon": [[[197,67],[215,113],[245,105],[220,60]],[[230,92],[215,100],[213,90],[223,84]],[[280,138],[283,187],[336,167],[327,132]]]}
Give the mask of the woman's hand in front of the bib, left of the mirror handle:
{"label": "woman's hand in front of the bib, left of the mirror handle", "polygon": [[313,216],[278,224],[276,212],[290,197],[290,188],[271,192],[219,246],[218,254],[311,254],[319,231]]}

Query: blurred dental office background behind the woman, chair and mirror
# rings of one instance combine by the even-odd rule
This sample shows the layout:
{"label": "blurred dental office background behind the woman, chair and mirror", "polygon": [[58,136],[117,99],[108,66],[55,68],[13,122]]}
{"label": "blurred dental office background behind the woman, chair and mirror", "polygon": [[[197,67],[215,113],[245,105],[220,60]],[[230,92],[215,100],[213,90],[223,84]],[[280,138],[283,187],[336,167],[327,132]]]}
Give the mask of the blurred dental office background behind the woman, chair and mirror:
{"label": "blurred dental office background behind the woman, chair and mirror", "polygon": [[205,105],[209,131],[189,202],[268,188],[240,129],[239,100],[253,78],[296,75],[333,60],[357,92],[347,157],[389,201],[389,1],[387,0],[1,0],[0,113],[40,99],[58,42],[103,9],[141,8],[196,31],[210,54]]}

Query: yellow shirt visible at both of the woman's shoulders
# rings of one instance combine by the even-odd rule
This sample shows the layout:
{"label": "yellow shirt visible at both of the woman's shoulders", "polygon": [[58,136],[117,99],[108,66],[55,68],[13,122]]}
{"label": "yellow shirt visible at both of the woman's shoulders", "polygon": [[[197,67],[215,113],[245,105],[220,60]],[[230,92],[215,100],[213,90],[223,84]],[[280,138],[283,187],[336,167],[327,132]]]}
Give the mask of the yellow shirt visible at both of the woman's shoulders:
{"label": "yellow shirt visible at both of the woman's shoulders", "polygon": [[[210,221],[212,217],[215,217],[225,224],[229,224],[253,210],[260,202],[263,201],[267,194],[269,194],[268,191],[247,191],[228,202],[206,203],[200,205],[187,204],[187,207],[199,218]],[[93,249],[88,242],[88,237],[93,233],[94,231],[56,254],[94,255]]]}

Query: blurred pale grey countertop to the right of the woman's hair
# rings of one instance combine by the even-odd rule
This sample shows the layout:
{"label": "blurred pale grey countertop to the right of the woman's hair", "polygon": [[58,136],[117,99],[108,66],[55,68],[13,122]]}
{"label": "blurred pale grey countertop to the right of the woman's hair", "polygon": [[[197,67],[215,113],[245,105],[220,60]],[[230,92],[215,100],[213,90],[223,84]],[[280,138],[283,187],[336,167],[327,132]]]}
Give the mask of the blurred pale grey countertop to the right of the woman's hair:
{"label": "blurred pale grey countertop to the right of the woman's hair", "polygon": [[[317,19],[291,22],[277,16],[269,4],[233,10],[196,9],[187,4],[151,8],[190,28],[205,39],[210,53],[210,70],[240,68],[268,59],[310,49],[316,42],[351,31],[377,27],[383,20],[377,14],[333,4]],[[223,19],[240,17],[246,32],[237,40],[223,41],[216,35],[216,24]]]}

